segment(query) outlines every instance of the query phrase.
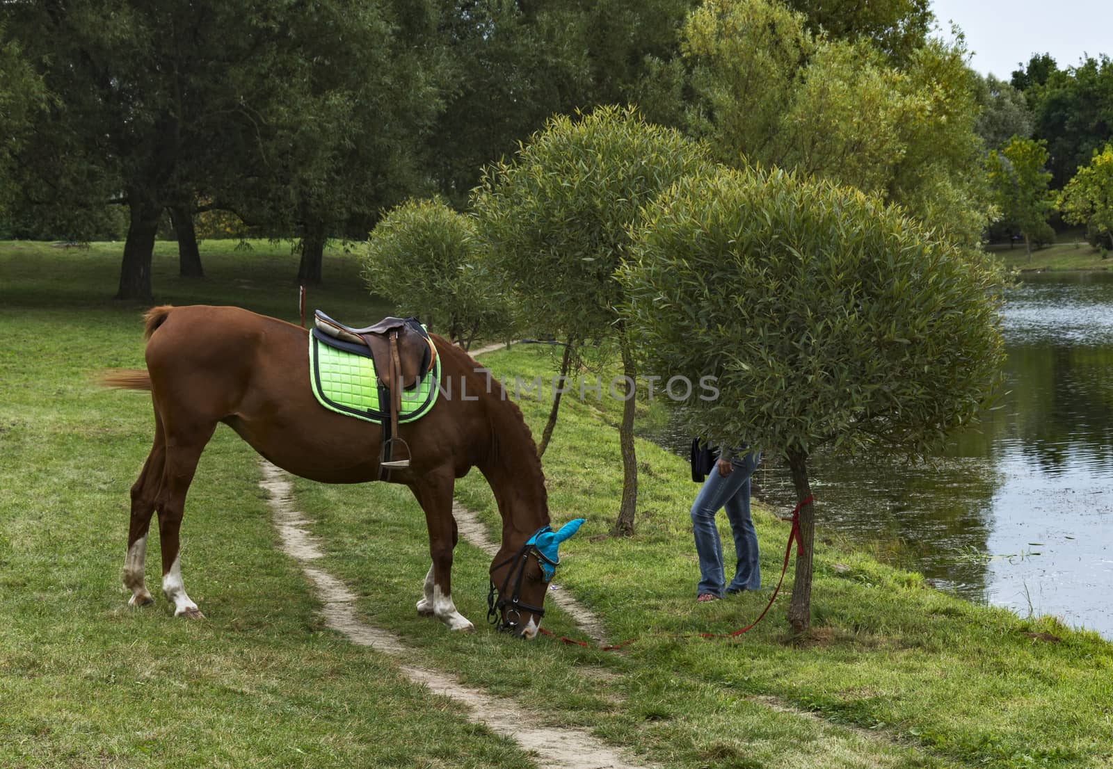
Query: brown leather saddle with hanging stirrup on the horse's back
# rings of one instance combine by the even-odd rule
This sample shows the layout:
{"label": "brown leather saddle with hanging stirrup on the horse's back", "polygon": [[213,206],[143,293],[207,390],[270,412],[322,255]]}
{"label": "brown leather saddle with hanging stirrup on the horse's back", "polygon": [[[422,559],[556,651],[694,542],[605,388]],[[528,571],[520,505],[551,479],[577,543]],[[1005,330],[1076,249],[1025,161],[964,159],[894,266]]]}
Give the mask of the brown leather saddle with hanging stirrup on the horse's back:
{"label": "brown leather saddle with hanging stirrup on the horse's back", "polygon": [[[324,334],[364,345],[371,351],[378,387],[387,395],[391,413],[390,424],[383,425],[380,477],[386,480],[390,470],[408,467],[412,455],[410,445],[398,436],[398,412],[402,408],[402,391],[414,387],[433,371],[436,346],[429,333],[417,318],[385,317],[372,326],[353,328],[334,321],[319,309],[314,312],[314,323]],[[394,444],[401,444],[405,448],[405,459],[394,457]]]}

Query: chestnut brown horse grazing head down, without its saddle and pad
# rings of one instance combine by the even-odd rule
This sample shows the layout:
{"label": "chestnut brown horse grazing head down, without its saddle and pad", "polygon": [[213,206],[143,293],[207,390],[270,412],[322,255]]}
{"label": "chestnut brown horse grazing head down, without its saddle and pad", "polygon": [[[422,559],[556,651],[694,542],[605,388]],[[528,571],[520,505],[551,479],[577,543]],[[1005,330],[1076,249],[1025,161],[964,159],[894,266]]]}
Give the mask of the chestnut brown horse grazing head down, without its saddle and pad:
{"label": "chestnut brown horse grazing head down, without its saddle and pad", "polygon": [[[201,617],[183,585],[178,532],[186,492],[217,424],[232,427],[279,467],[324,483],[377,480],[381,433],[378,425],[328,411],[314,398],[304,328],[238,307],[165,306],[147,313],[146,336],[147,371],[105,377],[110,387],[149,390],[155,406],[155,443],[131,486],[124,584],[131,605],[152,602],[144,559],[150,517],[158,511],[162,591],[175,615]],[[549,524],[541,462],[522,413],[499,382],[467,353],[433,338],[441,396],[429,414],[400,426],[413,457],[390,479],[408,486],[425,511],[432,565],[417,612],[452,630],[473,629],[452,601],[459,539],[452,493],[457,477],[479,467],[502,515],[490,619],[532,639],[555,560],[555,543],[544,552],[530,544]]]}

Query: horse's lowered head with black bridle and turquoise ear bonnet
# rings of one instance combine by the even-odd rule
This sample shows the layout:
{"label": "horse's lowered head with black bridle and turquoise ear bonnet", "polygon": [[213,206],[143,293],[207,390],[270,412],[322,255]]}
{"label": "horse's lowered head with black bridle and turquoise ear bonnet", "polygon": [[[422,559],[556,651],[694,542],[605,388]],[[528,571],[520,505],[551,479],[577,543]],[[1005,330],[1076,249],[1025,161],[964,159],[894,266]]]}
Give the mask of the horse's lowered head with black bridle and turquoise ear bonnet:
{"label": "horse's lowered head with black bridle and turquoise ear bonnet", "polygon": [[509,558],[499,551],[491,562],[487,621],[526,640],[536,637],[545,613],[545,592],[560,563],[556,549],[583,521],[569,521],[555,532],[542,526]]}

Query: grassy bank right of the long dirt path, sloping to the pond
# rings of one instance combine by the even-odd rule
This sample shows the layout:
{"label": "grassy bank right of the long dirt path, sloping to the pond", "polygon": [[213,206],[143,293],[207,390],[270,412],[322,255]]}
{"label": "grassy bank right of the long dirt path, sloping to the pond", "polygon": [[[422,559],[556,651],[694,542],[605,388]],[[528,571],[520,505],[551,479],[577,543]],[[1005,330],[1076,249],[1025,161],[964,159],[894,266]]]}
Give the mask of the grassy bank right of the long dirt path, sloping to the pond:
{"label": "grassy bank right of the long dirt path, sloping to the pond", "polygon": [[[535,347],[518,347],[489,355],[484,365],[511,379],[532,378],[550,361]],[[536,433],[546,404],[522,405]],[[1022,620],[954,599],[926,588],[918,574],[859,553],[820,545],[814,632],[799,644],[788,635],[784,602],[738,641],[679,638],[730,632],[757,615],[779,573],[787,524],[758,513],[766,589],[696,603],[688,509],[697,487],[683,461],[640,442],[638,535],[604,536],[622,481],[610,427],[617,418],[613,404],[567,402],[544,466],[554,519],[589,521],[564,546],[559,581],[604,618],[612,639],[639,638],[622,657],[543,640],[510,645],[495,664],[487,650],[498,641],[485,633],[446,637],[402,600],[416,600],[427,562],[420,510],[406,492],[299,483],[299,503],[331,543],[329,565],[367,592],[363,608],[375,622],[427,644],[476,684],[543,699],[554,719],[594,726],[656,760],[682,767],[1109,765],[1109,643],[1053,620]],[[465,477],[457,496],[481,511],[496,536],[482,477]],[[818,515],[821,525],[821,502]],[[413,542],[402,551],[372,542],[363,536],[368,522],[405,528]],[[476,619],[484,611],[486,561],[465,553],[457,604]],[[384,599],[384,590],[397,591],[400,601]],[[555,624],[568,632],[562,620]],[[618,676],[600,691],[591,676],[578,673],[582,666]],[[824,721],[771,712],[759,704],[768,697]],[[829,724],[861,727],[877,739]]]}

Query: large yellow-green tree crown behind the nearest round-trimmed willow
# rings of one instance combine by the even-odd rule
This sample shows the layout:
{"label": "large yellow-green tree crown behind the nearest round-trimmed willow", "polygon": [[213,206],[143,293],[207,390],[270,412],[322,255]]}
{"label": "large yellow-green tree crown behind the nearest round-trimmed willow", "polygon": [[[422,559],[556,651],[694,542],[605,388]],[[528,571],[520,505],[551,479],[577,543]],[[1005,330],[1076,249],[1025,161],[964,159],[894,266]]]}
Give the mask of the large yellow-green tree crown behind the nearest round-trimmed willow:
{"label": "large yellow-green tree crown behind the nearest round-trimmed willow", "polygon": [[689,130],[736,167],[777,166],[881,195],[965,245],[987,223],[977,105],[962,38],[898,65],[812,36],[775,0],[708,0],[683,32]]}

